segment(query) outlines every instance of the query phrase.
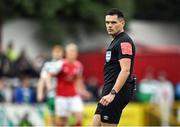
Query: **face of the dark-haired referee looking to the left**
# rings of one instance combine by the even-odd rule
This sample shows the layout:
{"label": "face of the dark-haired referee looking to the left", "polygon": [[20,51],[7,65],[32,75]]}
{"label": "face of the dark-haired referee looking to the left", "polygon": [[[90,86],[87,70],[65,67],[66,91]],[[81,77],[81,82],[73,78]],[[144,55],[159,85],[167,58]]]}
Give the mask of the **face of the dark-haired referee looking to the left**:
{"label": "face of the dark-haired referee looking to the left", "polygon": [[121,32],[125,25],[124,19],[118,18],[117,15],[106,15],[105,22],[108,34],[112,36]]}

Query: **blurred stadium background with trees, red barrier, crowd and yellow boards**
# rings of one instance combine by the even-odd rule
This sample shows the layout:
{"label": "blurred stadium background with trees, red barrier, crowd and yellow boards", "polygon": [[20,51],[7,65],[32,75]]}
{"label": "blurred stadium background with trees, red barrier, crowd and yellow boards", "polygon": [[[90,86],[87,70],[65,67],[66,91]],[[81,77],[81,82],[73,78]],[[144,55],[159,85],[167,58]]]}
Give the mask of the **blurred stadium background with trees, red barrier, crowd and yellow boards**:
{"label": "blurred stadium background with trees, red barrier, crowd and yellow boards", "polygon": [[[112,7],[125,13],[126,30],[137,50],[137,90],[120,125],[180,125],[179,0],[1,0],[0,126],[48,125],[48,109],[35,98],[39,72],[51,48],[69,42],[80,48],[85,85],[94,95],[85,101],[83,125],[91,124],[110,40],[104,15]],[[15,92],[23,83],[31,88],[32,98],[21,103]],[[162,118],[168,115],[169,122]]]}

